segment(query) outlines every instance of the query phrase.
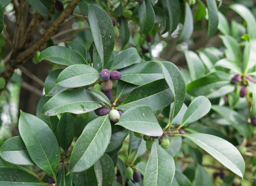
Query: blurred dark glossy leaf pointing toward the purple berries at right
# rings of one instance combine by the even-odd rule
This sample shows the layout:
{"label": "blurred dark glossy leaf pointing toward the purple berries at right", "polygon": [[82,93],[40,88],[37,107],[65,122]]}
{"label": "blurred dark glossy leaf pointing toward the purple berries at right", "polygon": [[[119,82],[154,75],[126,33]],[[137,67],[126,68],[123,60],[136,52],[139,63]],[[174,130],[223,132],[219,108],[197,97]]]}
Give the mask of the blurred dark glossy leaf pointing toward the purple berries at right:
{"label": "blurred dark glossy leaf pointing toward the purple berries at right", "polygon": [[[210,72],[187,85],[191,96],[210,96],[225,85],[230,85],[231,77],[222,71]],[[224,96],[224,95],[221,95]]]}

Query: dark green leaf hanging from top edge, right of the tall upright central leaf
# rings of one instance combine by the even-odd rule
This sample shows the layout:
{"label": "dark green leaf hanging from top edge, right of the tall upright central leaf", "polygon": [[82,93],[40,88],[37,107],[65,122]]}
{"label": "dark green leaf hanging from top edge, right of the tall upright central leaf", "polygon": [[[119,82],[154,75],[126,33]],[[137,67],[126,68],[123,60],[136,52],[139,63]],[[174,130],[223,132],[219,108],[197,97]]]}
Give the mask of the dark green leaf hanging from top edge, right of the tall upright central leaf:
{"label": "dark green leaf hanging from top edge, right of the tall upright central leaf", "polygon": [[154,25],[154,9],[148,0],[139,3],[139,23],[141,34],[148,34]]}

